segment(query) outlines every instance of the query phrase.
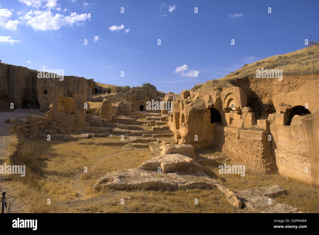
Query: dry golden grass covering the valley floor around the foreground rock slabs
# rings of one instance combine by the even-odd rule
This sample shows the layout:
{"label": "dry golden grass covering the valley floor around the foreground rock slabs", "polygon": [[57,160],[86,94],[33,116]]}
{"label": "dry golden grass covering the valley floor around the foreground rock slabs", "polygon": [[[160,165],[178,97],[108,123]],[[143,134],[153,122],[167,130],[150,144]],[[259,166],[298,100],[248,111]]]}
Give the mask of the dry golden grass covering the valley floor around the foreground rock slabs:
{"label": "dry golden grass covering the valley floor around the foreground rock slabs", "polygon": [[[99,140],[103,138],[93,138]],[[11,163],[26,163],[26,177],[12,177],[11,186],[15,195],[24,202],[21,212],[183,212],[183,213],[238,213],[248,209],[233,208],[217,189],[180,189],[177,191],[134,190],[118,191],[108,189],[93,194],[96,180],[106,172],[118,169],[136,168],[150,158],[147,149],[123,150],[122,147],[83,145],[79,142],[20,140],[20,148]],[[26,160],[28,151],[31,160]],[[204,150],[203,156],[223,156],[216,164],[204,166],[212,178],[229,187],[234,192],[246,188],[279,184],[290,191],[288,196],[275,200],[304,212],[318,212],[318,187],[309,186],[278,174],[259,175],[246,171],[239,175],[219,175],[218,166],[226,162],[220,152]],[[231,163],[228,163],[231,164]],[[84,173],[84,167],[88,173]],[[51,204],[47,205],[47,199]],[[124,199],[124,205],[121,205]],[[194,204],[198,199],[198,205]]]}

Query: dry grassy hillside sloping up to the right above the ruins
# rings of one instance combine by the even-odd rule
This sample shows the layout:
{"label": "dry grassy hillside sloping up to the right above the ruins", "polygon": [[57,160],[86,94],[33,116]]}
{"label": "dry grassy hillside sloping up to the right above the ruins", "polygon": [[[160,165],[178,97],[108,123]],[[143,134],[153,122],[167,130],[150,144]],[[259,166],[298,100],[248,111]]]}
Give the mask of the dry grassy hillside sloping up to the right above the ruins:
{"label": "dry grassy hillside sloping up to the right above the ruins", "polygon": [[304,49],[293,51],[284,55],[275,55],[231,72],[225,77],[197,84],[192,91],[201,92],[208,87],[218,87],[220,90],[233,87],[240,79],[256,78],[257,69],[282,69],[283,78],[291,74],[316,74],[319,73],[319,45],[308,46]]}

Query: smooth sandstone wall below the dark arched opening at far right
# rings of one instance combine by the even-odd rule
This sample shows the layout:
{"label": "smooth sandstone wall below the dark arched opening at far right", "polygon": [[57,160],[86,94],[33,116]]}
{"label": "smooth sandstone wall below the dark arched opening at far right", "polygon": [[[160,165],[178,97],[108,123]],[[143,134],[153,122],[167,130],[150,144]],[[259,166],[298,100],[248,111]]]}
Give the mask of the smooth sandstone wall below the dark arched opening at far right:
{"label": "smooth sandstone wall below the dark arched opening at far right", "polygon": [[302,125],[270,125],[270,131],[279,173],[319,185],[318,115],[302,119]]}

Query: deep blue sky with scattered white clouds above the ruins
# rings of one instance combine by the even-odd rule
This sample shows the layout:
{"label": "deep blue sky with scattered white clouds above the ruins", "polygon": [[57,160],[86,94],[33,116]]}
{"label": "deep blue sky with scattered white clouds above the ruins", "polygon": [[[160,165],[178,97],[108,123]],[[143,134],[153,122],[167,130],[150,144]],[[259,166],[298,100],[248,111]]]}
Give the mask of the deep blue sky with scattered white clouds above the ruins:
{"label": "deep blue sky with scattered white clouds above the ruins", "polygon": [[150,82],[164,92],[180,93],[319,39],[318,0],[0,0],[0,6],[2,62],[119,86]]}

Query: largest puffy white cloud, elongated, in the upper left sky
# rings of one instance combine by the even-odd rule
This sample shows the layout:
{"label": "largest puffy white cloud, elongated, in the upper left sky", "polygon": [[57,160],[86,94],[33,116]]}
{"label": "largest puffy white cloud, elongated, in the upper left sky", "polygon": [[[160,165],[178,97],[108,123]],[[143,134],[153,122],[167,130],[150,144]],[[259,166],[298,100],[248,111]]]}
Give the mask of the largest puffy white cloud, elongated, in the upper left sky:
{"label": "largest puffy white cloud, elongated, in the upper left sky", "polygon": [[[61,14],[52,15],[50,11],[32,11],[30,10],[19,19],[26,20],[26,24],[30,25],[34,30],[57,30],[62,26],[83,25],[87,19],[91,18],[91,14],[77,14],[70,12],[70,16]],[[81,23],[82,22],[82,23]]]}

